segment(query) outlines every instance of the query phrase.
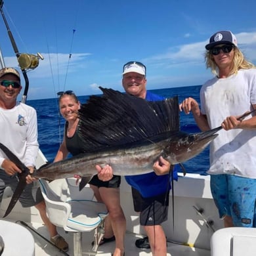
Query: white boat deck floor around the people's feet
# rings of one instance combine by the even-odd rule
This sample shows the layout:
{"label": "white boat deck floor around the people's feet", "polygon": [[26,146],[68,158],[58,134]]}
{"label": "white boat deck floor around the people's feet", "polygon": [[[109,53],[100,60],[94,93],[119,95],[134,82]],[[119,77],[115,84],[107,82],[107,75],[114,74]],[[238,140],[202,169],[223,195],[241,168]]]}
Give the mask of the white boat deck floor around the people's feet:
{"label": "white boat deck floor around the people's feet", "polygon": [[[18,223],[19,224],[19,223]],[[39,223],[31,224],[28,223],[33,230],[36,230],[41,236],[49,240],[49,233],[45,226]],[[22,225],[23,226],[23,225]],[[41,238],[38,234],[30,230],[33,238],[35,240],[35,256],[60,256],[60,255],[70,255],[75,256],[73,251],[73,234],[72,232],[66,233],[62,228],[58,228],[58,232],[62,235],[69,244],[69,251],[67,253],[62,253],[58,251],[56,247],[48,243],[46,240]],[[139,249],[135,246],[135,240],[141,238],[142,236],[127,233],[125,235],[125,256],[152,256],[150,249]],[[91,242],[94,239],[94,232],[83,232],[83,255],[97,255],[97,256],[110,256],[114,251],[115,242],[106,243],[98,247],[98,252],[95,254],[91,249]],[[209,250],[199,249],[195,247],[189,247],[186,245],[174,244],[171,242],[167,243],[167,256],[211,256]],[[20,255],[20,254],[19,254]],[[15,255],[12,255],[15,256]]]}

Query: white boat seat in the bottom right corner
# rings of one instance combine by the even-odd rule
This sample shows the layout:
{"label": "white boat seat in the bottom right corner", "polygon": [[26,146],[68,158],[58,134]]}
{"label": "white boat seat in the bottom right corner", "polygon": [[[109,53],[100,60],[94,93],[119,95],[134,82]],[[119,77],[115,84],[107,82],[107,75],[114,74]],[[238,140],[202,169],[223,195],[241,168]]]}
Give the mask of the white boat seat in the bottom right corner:
{"label": "white boat seat in the bottom right corner", "polygon": [[221,228],[211,236],[211,256],[255,256],[256,228]]}

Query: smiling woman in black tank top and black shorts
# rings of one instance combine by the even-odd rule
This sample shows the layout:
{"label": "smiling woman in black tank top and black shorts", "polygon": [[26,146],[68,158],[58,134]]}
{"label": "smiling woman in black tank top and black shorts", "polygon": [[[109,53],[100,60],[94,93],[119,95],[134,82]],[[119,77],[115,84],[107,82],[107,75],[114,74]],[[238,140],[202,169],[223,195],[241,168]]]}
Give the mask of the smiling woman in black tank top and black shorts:
{"label": "smiling woman in black tank top and black shorts", "polygon": [[[72,91],[59,95],[60,114],[66,119],[66,123],[63,141],[54,161],[64,160],[68,153],[72,156],[83,153],[83,142],[77,133],[79,123],[77,111],[80,108],[80,102]],[[89,184],[95,193],[96,200],[105,203],[109,213],[105,219],[105,235],[100,244],[116,239],[114,255],[123,255],[126,221],[120,205],[121,177],[112,174],[111,177],[110,181],[100,181],[98,175],[95,175]]]}

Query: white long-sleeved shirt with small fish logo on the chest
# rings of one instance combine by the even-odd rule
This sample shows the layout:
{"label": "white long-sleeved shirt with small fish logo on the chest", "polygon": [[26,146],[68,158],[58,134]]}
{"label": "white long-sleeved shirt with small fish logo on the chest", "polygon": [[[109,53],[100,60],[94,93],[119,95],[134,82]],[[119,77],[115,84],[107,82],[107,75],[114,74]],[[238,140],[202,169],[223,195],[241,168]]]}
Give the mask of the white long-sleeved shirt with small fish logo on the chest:
{"label": "white long-sleeved shirt with small fish logo on the chest", "polygon": [[[34,166],[39,148],[35,109],[20,102],[11,110],[0,108],[0,142],[26,166]],[[0,150],[0,166],[5,158]]]}

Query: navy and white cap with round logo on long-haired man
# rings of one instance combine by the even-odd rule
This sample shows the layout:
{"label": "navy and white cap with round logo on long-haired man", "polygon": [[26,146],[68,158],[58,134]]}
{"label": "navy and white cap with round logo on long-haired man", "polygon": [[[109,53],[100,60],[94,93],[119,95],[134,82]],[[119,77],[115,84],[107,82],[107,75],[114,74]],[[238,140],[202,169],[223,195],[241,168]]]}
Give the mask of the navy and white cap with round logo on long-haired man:
{"label": "navy and white cap with round logo on long-haired man", "polygon": [[205,45],[206,50],[210,50],[211,48],[215,47],[215,45],[221,45],[221,44],[230,44],[230,45],[235,45],[236,47],[238,46],[238,41],[236,40],[236,36],[228,31],[228,30],[223,30],[214,33],[210,39],[209,43]]}

